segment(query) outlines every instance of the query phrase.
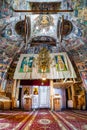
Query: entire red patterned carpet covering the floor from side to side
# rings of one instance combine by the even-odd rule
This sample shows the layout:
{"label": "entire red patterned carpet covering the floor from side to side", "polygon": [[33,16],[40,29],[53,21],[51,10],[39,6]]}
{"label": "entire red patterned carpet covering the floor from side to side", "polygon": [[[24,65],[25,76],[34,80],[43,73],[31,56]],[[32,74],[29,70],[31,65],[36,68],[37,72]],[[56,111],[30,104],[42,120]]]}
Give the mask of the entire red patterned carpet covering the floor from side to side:
{"label": "entire red patterned carpet covering the floor from side to side", "polygon": [[0,111],[0,130],[87,130],[87,111]]}

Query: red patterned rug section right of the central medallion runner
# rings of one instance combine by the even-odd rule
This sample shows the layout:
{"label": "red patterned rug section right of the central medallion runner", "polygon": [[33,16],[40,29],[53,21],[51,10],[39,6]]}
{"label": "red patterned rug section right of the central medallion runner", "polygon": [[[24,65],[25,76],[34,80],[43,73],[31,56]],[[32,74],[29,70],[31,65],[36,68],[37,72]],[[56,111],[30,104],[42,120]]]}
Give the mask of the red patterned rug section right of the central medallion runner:
{"label": "red patterned rug section right of the central medallion runner", "polygon": [[54,112],[58,119],[70,127],[70,130],[87,130],[87,116],[72,111]]}

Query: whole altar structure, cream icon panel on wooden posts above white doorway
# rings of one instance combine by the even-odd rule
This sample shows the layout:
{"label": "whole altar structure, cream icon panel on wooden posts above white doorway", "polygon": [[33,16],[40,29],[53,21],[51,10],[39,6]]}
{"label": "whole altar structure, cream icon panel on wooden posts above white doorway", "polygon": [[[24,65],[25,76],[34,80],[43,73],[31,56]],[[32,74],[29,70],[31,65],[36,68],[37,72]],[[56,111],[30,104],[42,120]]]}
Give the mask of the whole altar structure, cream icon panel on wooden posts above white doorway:
{"label": "whole altar structure, cream icon panel on wooden posts above white doorway", "polygon": [[39,54],[22,54],[14,73],[15,104],[19,102],[20,108],[25,110],[65,109],[68,87],[72,88],[74,101],[75,78],[76,73],[65,52],[51,54],[42,48]]}

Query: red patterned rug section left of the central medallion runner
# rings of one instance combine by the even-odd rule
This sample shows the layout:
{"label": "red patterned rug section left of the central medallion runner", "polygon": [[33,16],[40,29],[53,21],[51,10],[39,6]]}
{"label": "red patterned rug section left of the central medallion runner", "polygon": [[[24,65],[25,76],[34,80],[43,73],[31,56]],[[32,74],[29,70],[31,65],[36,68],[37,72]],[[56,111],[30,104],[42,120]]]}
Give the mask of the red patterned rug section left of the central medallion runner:
{"label": "red patterned rug section left of the central medallion runner", "polygon": [[0,111],[0,130],[22,130],[29,123],[33,112]]}

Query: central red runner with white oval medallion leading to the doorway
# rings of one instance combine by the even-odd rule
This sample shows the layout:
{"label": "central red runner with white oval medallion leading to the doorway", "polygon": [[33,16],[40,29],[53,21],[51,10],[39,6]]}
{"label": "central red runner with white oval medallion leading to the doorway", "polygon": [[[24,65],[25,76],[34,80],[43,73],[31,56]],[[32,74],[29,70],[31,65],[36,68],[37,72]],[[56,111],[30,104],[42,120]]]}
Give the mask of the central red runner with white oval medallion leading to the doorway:
{"label": "central red runner with white oval medallion leading to the doorway", "polygon": [[28,129],[29,130],[63,130],[64,126],[61,123],[62,122],[57,120],[55,115],[53,115],[51,111],[39,110],[37,111]]}

